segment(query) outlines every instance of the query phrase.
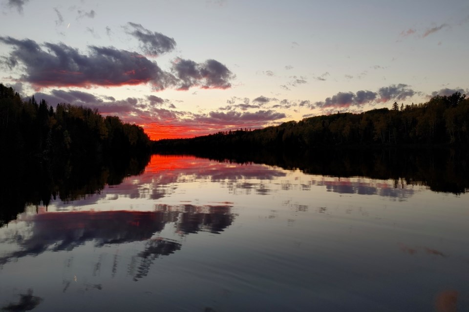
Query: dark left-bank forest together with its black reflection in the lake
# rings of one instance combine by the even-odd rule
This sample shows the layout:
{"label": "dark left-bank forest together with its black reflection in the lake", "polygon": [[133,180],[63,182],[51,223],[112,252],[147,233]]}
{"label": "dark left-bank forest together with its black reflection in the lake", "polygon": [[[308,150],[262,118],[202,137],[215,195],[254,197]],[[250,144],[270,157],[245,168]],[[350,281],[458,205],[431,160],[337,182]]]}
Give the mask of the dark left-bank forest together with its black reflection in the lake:
{"label": "dark left-bank forest together with its black reflection in the lake", "polygon": [[0,83],[0,225],[25,205],[74,200],[143,172],[150,142],[118,117],[64,103],[54,110]]}

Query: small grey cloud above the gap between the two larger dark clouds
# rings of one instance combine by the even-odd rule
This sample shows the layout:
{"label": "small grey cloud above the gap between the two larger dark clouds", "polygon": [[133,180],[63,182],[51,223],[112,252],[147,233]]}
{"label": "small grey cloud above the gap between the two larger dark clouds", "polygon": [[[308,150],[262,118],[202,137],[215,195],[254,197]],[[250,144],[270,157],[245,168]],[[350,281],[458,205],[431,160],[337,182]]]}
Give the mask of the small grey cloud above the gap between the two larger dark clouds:
{"label": "small grey cloud above the gap between the two larger dark clouds", "polygon": [[161,33],[149,31],[141,24],[128,22],[125,29],[127,34],[139,40],[140,48],[145,54],[158,56],[176,48],[174,39]]}

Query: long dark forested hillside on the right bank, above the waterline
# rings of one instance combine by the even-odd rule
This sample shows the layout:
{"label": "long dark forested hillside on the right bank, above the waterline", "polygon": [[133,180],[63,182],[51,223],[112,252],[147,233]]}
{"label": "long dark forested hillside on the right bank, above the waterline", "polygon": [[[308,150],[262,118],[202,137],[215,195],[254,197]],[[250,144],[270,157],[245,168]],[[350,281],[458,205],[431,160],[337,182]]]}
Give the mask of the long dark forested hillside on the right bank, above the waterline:
{"label": "long dark forested hillside on the right bank, above the waterline", "polygon": [[250,131],[218,132],[156,141],[156,152],[197,153],[207,149],[290,150],[323,146],[468,145],[469,99],[457,92],[423,104],[393,104],[361,114],[337,113]]}

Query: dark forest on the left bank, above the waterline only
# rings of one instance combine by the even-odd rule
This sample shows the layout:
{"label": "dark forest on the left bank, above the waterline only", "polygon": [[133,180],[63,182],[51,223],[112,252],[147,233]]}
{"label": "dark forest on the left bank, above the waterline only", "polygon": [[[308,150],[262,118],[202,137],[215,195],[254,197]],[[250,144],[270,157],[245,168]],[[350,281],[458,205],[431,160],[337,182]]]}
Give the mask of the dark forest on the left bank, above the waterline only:
{"label": "dark forest on the left bank, above the waterline only", "polygon": [[54,110],[34,96],[23,101],[12,87],[0,83],[0,146],[15,156],[84,161],[148,152],[150,140],[141,127],[118,117],[64,103]]}

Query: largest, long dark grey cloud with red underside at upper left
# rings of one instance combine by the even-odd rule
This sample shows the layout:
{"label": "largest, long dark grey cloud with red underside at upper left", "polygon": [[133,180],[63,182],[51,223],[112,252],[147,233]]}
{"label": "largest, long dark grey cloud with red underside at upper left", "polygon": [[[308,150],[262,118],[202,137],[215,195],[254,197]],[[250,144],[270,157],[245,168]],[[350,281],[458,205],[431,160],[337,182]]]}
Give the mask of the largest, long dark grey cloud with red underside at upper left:
{"label": "largest, long dark grey cloud with red underside at upper left", "polygon": [[3,63],[10,68],[21,63],[25,74],[21,79],[35,87],[91,85],[118,86],[150,83],[155,90],[174,84],[174,77],[163,72],[156,63],[142,55],[113,47],[89,46],[88,55],[64,43],[0,37],[0,42],[13,46]]}

